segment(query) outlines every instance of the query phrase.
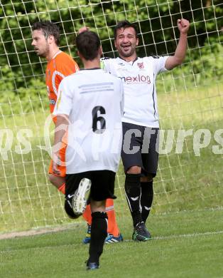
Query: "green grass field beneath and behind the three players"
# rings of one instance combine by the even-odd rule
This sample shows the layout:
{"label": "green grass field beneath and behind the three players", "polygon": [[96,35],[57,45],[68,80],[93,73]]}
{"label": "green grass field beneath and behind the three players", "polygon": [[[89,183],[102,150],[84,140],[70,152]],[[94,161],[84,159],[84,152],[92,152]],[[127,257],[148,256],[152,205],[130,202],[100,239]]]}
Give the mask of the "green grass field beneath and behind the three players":
{"label": "green grass field beneath and behind the three players", "polygon": [[[219,136],[217,143],[214,138],[216,130],[222,130],[222,91],[219,82],[158,95],[161,129],[175,133],[173,148],[160,155],[154,180],[155,197],[147,223],[153,240],[131,241],[120,166],[115,207],[124,242],[105,246],[101,269],[91,274],[85,271],[88,248],[81,244],[85,223],[72,222],[65,215],[63,196],[48,182],[50,157],[38,147],[44,145],[48,111],[16,115],[13,105],[17,104],[11,103],[11,112],[0,115],[1,127],[13,133],[11,148],[1,153],[0,160],[0,237],[48,227],[66,230],[0,240],[0,277],[223,277],[223,140]],[[28,138],[31,151],[21,155],[16,152],[17,135],[24,128],[32,133]],[[192,135],[183,141],[183,152],[177,153],[178,130],[189,129]],[[194,136],[200,129],[210,130],[211,138],[196,156]],[[1,148],[10,141],[6,135],[0,139]],[[204,140],[203,135],[200,143]],[[165,149],[166,133],[163,142]],[[219,154],[213,153],[213,145],[219,147]],[[8,158],[3,159],[6,154]]]}

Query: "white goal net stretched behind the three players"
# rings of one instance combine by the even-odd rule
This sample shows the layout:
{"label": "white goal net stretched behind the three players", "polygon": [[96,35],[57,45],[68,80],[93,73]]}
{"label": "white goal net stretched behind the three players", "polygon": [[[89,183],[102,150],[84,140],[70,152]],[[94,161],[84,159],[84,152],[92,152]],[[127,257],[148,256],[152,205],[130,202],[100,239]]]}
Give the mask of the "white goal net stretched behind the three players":
{"label": "white goal net stretched behind the three players", "polygon": [[[114,26],[128,19],[138,25],[138,56],[162,56],[175,51],[177,19],[190,21],[183,65],[156,83],[161,142],[151,213],[222,208],[222,14],[220,0],[0,0],[0,232],[70,222],[48,181],[46,61],[31,46],[39,20],[60,26],[60,49],[78,63],[73,40],[82,26],[97,31],[104,56],[115,57]],[[126,215],[121,165],[116,195],[116,214]]]}

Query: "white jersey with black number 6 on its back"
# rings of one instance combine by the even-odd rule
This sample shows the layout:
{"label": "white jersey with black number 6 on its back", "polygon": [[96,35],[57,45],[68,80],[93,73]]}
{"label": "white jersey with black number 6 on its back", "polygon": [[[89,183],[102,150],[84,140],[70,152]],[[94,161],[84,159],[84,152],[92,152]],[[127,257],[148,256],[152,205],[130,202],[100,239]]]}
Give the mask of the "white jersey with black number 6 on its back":
{"label": "white jersey with black number 6 on its back", "polygon": [[[124,90],[120,78],[102,69],[65,77],[54,115],[69,115],[67,174],[92,170],[116,172],[121,153]],[[62,127],[61,127],[62,128]]]}

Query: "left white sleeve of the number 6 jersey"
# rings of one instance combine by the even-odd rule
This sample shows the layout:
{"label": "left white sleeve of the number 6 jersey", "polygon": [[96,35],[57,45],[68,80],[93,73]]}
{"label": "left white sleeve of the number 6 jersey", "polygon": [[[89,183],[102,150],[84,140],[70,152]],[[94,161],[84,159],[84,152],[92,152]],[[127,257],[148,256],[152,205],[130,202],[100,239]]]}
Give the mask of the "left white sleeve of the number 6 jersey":
{"label": "left white sleeve of the number 6 jersey", "polygon": [[53,110],[53,115],[65,114],[70,115],[70,111],[72,109],[72,99],[73,93],[69,88],[69,83],[64,78],[60,82],[60,86],[58,88],[58,100],[55,104],[55,108]]}

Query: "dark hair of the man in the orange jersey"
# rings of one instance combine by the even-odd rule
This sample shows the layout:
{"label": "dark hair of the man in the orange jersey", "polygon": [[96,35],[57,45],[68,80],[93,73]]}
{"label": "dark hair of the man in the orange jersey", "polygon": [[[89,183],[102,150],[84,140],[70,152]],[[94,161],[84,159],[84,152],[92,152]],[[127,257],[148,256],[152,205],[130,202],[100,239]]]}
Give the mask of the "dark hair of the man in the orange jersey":
{"label": "dark hair of the man in the orange jersey", "polygon": [[58,46],[60,43],[60,29],[56,24],[50,21],[38,21],[32,26],[32,30],[41,30],[45,38],[53,36],[55,38],[55,43]]}

